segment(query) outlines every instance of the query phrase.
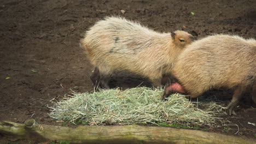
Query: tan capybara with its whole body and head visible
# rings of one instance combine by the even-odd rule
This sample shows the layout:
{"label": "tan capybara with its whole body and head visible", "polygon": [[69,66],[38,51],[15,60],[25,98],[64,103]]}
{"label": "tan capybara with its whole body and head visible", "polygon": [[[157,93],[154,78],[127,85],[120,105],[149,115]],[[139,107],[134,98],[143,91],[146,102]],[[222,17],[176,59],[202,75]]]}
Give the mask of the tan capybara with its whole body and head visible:
{"label": "tan capybara with its whole body and head visible", "polygon": [[92,65],[95,86],[109,88],[114,71],[147,77],[154,87],[169,75],[173,62],[195,37],[185,31],[158,33],[121,17],[98,21],[81,40]]}

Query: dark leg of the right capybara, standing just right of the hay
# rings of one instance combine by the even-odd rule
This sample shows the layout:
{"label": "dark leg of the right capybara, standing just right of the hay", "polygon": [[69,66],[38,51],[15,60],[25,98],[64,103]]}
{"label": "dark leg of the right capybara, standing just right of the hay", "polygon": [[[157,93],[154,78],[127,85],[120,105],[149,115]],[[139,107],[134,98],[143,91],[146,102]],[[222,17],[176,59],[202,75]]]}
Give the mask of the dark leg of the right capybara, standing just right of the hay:
{"label": "dark leg of the right capybara, standing just right of the hay", "polygon": [[239,101],[240,101],[240,99],[242,97],[242,94],[245,91],[246,91],[246,87],[243,87],[243,86],[238,86],[235,89],[234,94],[232,96],[232,100],[231,100],[231,102],[228,105],[228,114],[229,114],[229,116],[236,115],[236,113],[234,111],[234,108],[239,103]]}

